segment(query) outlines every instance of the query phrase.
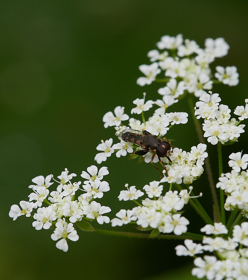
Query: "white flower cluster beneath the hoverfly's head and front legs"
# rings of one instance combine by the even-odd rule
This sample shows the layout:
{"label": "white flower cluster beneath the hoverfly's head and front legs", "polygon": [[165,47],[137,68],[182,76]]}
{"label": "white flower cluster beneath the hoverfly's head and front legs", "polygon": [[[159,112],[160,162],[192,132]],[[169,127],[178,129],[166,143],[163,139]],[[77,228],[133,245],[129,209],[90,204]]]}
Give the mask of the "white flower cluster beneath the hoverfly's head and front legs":
{"label": "white flower cluster beneath the hoverfly's head and front legs", "polygon": [[[165,167],[168,171],[168,176],[164,170],[163,173],[165,176],[160,182],[177,184],[183,182],[186,185],[192,184],[204,171],[202,165],[204,164],[205,158],[208,156],[207,152],[205,152],[206,149],[207,145],[202,143],[198,144],[197,147],[191,147],[190,153],[182,149],[174,148],[169,157],[171,162],[169,162],[166,157],[162,158],[162,161],[167,163]],[[145,158],[145,160],[146,159],[147,158]],[[156,161],[158,161],[158,159],[155,157],[153,162]]]}

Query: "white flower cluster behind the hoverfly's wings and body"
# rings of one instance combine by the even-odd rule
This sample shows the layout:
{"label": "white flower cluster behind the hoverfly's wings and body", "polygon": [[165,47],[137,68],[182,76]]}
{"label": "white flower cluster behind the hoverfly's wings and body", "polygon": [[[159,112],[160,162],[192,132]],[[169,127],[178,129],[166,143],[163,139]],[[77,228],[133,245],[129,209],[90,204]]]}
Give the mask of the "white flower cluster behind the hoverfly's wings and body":
{"label": "white flower cluster behind the hoverfly's wings and body", "polygon": [[[176,81],[176,80],[175,80]],[[180,94],[183,94],[184,88],[181,88],[182,92]],[[117,106],[114,109],[115,115],[118,115],[118,117],[114,117],[112,112],[108,112],[103,116],[103,122],[104,127],[107,128],[109,126],[115,126],[115,135],[118,136],[119,140],[121,140],[120,143],[113,144],[113,139],[110,138],[106,140],[105,142],[101,140],[101,144],[99,144],[96,147],[96,150],[102,151],[101,153],[96,154],[95,160],[98,164],[100,164],[103,161],[107,160],[107,157],[110,157],[112,153],[116,151],[116,157],[126,156],[127,153],[133,153],[134,148],[136,149],[137,146],[124,142],[120,137],[119,134],[124,129],[130,128],[130,129],[136,129],[136,130],[147,130],[153,135],[156,135],[158,137],[164,136],[167,131],[175,124],[185,124],[188,122],[188,113],[186,112],[171,112],[171,113],[165,113],[168,106],[175,103],[174,101],[164,103],[164,101],[157,99],[157,101],[148,100],[145,102],[145,92],[143,93],[143,99],[135,99],[133,101],[133,104],[136,105],[135,108],[131,110],[131,114],[141,114],[144,111],[148,111],[150,108],[152,108],[153,104],[158,105],[160,108],[156,109],[155,112],[151,117],[148,118],[148,121],[142,122],[140,120],[136,120],[134,118],[130,118],[124,114],[124,107]],[[167,95],[169,96],[169,95]],[[176,97],[178,95],[175,95]],[[173,97],[174,98],[174,97]],[[176,100],[177,102],[178,100]],[[128,126],[123,125],[121,123],[121,120],[128,120],[129,124]],[[118,123],[117,123],[118,122]],[[170,127],[168,127],[170,125]],[[150,162],[152,158],[152,153],[147,153],[145,156],[145,162]],[[155,157],[155,163],[158,162],[158,157]]]}

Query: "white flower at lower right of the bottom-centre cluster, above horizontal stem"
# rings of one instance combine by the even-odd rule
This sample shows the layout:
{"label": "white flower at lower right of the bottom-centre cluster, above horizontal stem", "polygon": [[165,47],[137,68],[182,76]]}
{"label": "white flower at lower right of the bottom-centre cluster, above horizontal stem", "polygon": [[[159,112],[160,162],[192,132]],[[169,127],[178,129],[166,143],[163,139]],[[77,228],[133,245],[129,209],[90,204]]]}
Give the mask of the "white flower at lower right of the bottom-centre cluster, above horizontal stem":
{"label": "white flower at lower right of the bottom-centre cluster, above horizontal stem", "polygon": [[174,214],[173,216],[166,215],[162,220],[164,222],[162,232],[174,232],[176,235],[181,235],[183,232],[186,232],[186,226],[190,223],[185,217],[181,217],[181,214]]}

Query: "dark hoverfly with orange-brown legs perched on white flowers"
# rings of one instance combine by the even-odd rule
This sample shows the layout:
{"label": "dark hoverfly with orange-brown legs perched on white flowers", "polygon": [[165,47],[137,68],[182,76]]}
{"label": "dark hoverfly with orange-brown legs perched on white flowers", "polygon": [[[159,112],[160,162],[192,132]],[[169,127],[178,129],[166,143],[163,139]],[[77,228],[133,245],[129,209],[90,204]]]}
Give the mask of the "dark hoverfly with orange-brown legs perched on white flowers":
{"label": "dark hoverfly with orange-brown legs perched on white flowers", "polygon": [[[122,132],[120,132],[119,136],[121,137],[121,139],[123,141],[133,143],[137,146],[140,146],[140,148],[142,148],[142,150],[133,152],[134,154],[143,156],[143,155],[146,155],[148,152],[153,153],[152,160],[151,160],[151,164],[153,166],[155,166],[153,164],[153,159],[154,159],[155,155],[157,154],[157,156],[159,158],[159,162],[163,166],[163,168],[166,170],[166,173],[168,176],[168,171],[161,162],[161,157],[167,157],[168,160],[171,162],[171,159],[169,158],[169,156],[172,153],[171,152],[172,146],[166,137],[164,137],[163,139],[160,139],[156,135],[153,135],[146,130],[141,131],[141,130],[136,130],[136,129],[125,129]],[[165,139],[167,141],[164,141]],[[161,177],[160,169],[157,166],[155,166],[155,167],[159,170],[160,177]]]}

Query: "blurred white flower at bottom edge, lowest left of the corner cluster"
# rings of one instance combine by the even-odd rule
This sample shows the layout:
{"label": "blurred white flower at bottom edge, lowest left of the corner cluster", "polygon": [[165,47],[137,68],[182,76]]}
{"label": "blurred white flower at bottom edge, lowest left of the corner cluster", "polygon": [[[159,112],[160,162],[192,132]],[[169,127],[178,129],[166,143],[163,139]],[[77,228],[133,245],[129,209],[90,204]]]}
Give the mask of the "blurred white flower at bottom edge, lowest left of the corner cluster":
{"label": "blurred white flower at bottom edge, lowest left of the corner cluster", "polygon": [[202,258],[198,257],[194,260],[195,268],[192,269],[192,275],[198,278],[203,278],[206,276],[208,280],[213,280],[216,274],[215,264],[217,262],[214,256],[204,256]]}

